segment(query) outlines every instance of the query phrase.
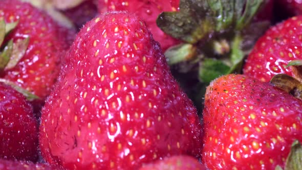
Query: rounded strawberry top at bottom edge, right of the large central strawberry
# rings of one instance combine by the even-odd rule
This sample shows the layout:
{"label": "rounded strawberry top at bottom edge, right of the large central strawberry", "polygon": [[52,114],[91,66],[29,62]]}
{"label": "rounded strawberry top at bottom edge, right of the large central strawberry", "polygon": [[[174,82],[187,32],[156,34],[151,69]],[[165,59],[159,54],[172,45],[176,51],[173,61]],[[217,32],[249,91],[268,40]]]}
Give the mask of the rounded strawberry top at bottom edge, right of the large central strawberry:
{"label": "rounded strawberry top at bottom edge, right of the large central strawberry", "polygon": [[172,156],[154,163],[143,165],[139,170],[206,170],[207,168],[197,159],[190,156]]}

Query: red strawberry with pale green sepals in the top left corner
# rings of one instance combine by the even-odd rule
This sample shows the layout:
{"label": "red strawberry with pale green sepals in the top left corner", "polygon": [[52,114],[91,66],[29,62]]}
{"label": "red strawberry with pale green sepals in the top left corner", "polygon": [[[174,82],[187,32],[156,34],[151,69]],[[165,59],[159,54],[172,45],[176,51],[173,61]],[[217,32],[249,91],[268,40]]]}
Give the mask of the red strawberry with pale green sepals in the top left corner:
{"label": "red strawberry with pale green sepals in the top left corner", "polygon": [[58,26],[45,12],[18,0],[0,1],[0,18],[18,22],[5,42],[29,37],[28,47],[13,68],[5,68],[1,78],[10,80],[40,98],[49,95],[60,70],[61,57],[69,48],[70,30]]}

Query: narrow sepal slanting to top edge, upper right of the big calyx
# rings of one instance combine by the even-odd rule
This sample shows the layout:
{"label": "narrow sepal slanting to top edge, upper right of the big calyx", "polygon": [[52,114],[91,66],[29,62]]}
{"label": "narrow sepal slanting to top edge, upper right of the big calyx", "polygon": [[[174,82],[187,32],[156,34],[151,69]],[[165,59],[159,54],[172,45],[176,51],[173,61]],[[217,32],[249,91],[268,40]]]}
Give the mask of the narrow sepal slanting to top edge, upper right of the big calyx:
{"label": "narrow sepal slanting to top edge, upper right of the big calyx", "polygon": [[261,5],[263,5],[264,3],[265,0],[247,0],[244,8],[244,13],[237,21],[236,29],[242,30],[243,28],[245,28],[251,22],[254,15],[258,12]]}

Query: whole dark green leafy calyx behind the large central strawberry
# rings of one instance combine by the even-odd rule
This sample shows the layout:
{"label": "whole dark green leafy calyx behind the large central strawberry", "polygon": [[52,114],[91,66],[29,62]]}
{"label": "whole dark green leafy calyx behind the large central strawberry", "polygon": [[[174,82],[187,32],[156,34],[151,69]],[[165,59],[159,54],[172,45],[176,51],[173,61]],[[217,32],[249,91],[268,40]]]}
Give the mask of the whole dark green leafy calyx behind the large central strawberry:
{"label": "whole dark green leafy calyx behind the large central strawberry", "polygon": [[163,12],[156,21],[165,33],[183,41],[165,52],[169,65],[185,63],[198,71],[202,82],[241,71],[244,56],[270,25],[252,22],[264,4],[264,0],[180,0],[179,11]]}

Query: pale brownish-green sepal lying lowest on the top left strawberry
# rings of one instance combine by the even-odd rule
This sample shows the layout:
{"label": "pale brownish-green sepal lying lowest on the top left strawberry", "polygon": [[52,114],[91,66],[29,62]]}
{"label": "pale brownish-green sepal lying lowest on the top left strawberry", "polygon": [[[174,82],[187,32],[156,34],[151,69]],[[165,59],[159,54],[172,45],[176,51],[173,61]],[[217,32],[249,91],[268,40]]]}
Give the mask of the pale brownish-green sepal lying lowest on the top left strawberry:
{"label": "pale brownish-green sepal lying lowest on the top left strawberry", "polygon": [[9,62],[7,63],[5,69],[12,69],[17,65],[19,60],[24,56],[29,43],[29,38],[18,39],[13,44],[13,51]]}

